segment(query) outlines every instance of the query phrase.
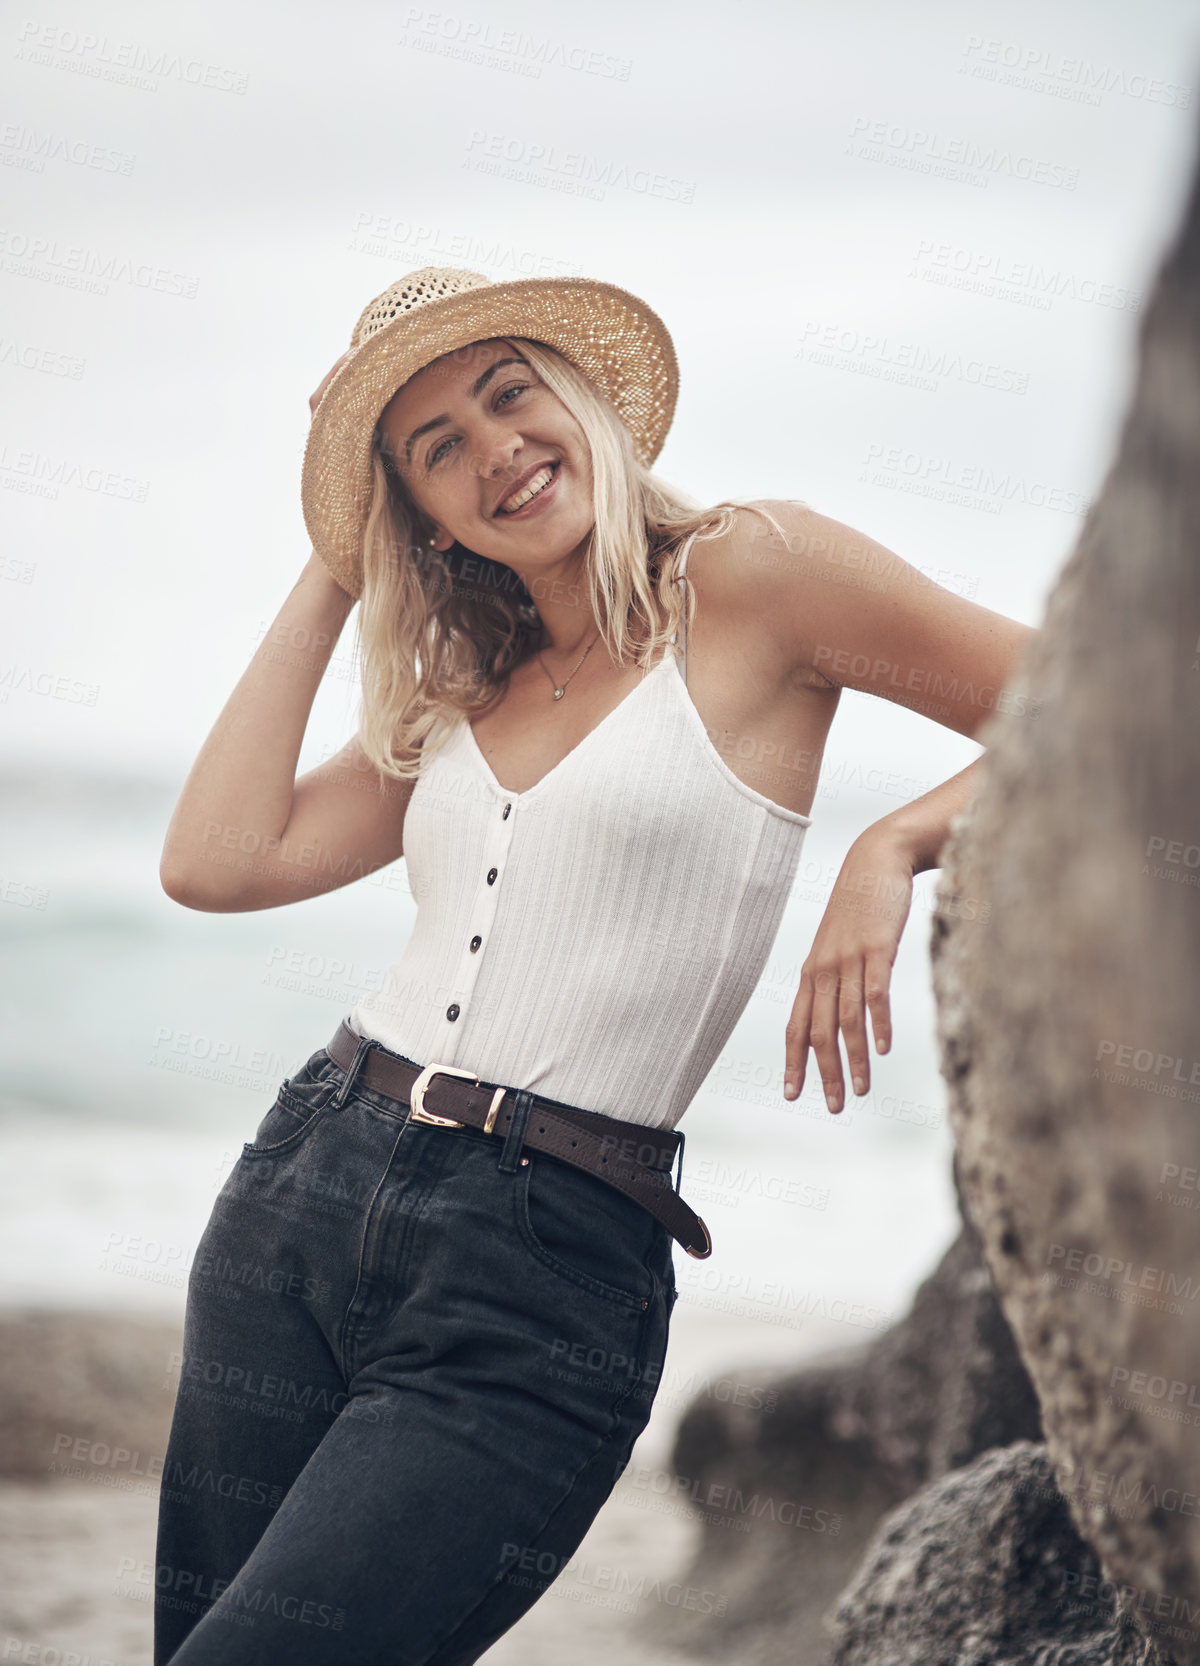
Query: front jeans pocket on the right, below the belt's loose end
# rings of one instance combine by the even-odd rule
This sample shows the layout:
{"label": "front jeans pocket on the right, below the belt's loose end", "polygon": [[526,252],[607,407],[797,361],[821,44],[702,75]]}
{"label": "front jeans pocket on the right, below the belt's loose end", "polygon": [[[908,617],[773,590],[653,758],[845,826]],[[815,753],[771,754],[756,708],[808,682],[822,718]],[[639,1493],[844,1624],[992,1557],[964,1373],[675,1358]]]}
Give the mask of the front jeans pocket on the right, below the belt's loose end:
{"label": "front jeans pocket on the right, below the belt's loose end", "polygon": [[525,1248],[578,1289],[620,1308],[645,1308],[655,1294],[655,1218],[595,1175],[540,1151],[527,1156],[515,1188]]}

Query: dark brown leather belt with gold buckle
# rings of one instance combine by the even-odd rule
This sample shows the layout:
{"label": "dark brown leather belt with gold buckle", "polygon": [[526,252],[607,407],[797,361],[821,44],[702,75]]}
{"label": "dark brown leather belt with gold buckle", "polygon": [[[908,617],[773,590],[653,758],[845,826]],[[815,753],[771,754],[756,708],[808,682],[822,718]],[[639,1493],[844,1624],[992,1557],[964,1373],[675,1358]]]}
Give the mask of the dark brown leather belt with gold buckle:
{"label": "dark brown leather belt with gold buckle", "polygon": [[560,1100],[502,1088],[480,1081],[473,1070],[453,1065],[413,1065],[390,1053],[378,1041],[357,1035],[342,1020],[325,1050],[347,1078],[333,1103],[345,1103],[360,1081],[410,1106],[415,1123],[437,1128],[482,1128],[503,1140],[518,1100],[528,1100],[523,1145],[545,1151],[560,1163],[582,1168],[585,1175],[623,1191],[662,1221],[690,1256],[703,1261],[712,1254],[708,1228],[690,1210],[670,1181],[670,1170],[683,1143],[683,1135],[662,1128],[642,1128],[600,1111],[585,1111]]}

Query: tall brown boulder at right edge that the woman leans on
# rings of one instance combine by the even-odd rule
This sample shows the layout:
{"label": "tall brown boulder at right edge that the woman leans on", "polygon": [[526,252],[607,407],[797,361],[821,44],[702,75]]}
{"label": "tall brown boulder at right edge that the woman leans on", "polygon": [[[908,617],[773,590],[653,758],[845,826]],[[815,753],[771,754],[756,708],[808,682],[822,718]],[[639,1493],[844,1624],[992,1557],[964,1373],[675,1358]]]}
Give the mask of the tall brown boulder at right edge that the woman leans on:
{"label": "tall brown boulder at right edge that the woman leans on", "polygon": [[933,965],[967,1211],[1077,1524],[1153,1626],[1200,1614],[1200,178],[1138,345]]}

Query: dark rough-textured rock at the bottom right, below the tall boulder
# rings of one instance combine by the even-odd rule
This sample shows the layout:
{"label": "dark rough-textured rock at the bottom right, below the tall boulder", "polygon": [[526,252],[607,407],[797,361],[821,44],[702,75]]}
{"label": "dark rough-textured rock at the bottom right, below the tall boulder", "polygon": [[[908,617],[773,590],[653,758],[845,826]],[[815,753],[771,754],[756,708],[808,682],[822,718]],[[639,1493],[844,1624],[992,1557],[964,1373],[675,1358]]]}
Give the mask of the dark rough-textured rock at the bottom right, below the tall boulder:
{"label": "dark rough-textured rock at the bottom right, below the tall boulder", "polygon": [[832,1666],[1170,1666],[1107,1584],[1043,1446],[995,1448],[878,1526]]}

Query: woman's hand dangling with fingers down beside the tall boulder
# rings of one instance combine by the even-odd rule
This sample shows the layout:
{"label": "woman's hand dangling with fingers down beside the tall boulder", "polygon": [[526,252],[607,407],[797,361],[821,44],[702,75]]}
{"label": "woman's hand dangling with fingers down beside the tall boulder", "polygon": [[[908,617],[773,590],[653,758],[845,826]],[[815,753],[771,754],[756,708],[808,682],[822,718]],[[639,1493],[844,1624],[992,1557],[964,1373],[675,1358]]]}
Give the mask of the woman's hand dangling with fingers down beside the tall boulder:
{"label": "woman's hand dangling with fingers down beside the tall boulder", "polygon": [[892,1045],[888,985],[912,906],[912,881],[913,863],[887,831],[868,828],[850,846],[800,968],[800,990],[785,1030],[785,1100],[800,1096],[812,1046],[825,1103],[833,1115],[842,1110],[845,1088],[838,1028],[845,1036],[855,1093],[870,1090],[867,1010],[875,1051],[887,1053]]}

